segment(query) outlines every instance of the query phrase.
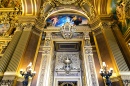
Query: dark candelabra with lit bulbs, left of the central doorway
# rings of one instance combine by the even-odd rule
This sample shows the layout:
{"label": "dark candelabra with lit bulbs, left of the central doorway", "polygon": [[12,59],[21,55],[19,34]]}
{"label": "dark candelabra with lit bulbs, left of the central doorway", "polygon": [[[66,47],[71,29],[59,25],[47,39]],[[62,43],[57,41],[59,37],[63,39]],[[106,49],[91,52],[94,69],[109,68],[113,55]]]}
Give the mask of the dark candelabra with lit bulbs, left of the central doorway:
{"label": "dark candelabra with lit bulbs, left of the central doorway", "polygon": [[32,63],[29,63],[25,71],[21,69],[20,74],[24,76],[23,86],[28,86],[29,77],[33,77],[36,74],[35,71],[32,71]]}

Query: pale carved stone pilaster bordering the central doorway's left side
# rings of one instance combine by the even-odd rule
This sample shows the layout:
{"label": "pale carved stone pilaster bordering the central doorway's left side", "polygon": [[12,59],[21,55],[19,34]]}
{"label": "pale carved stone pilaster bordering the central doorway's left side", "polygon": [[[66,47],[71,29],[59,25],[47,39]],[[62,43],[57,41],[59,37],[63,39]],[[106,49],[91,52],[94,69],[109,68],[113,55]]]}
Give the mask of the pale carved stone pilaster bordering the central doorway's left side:
{"label": "pale carved stone pilaster bordering the central doorway's left side", "polygon": [[52,86],[52,59],[53,59],[53,42],[51,33],[46,33],[45,42],[42,50],[42,60],[36,86]]}

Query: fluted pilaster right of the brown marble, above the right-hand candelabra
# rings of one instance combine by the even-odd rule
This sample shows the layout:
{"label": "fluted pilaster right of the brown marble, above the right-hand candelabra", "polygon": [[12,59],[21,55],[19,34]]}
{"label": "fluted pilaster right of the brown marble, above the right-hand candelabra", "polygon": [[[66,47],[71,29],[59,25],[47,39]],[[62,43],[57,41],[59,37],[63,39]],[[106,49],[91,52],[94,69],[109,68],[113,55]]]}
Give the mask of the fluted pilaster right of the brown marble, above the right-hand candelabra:
{"label": "fluted pilaster right of the brown marble, above the right-hand candelabra", "polygon": [[128,71],[129,68],[125,62],[124,56],[116,42],[116,39],[110,28],[104,29],[109,47],[114,55],[119,71]]}

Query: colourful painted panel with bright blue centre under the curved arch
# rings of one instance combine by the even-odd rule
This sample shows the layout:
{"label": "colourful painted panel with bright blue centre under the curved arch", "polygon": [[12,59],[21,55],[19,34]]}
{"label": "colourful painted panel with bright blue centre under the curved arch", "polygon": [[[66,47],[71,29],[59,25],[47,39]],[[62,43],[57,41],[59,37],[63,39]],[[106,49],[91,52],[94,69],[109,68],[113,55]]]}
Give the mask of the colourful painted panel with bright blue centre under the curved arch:
{"label": "colourful painted panel with bright blue centre under the curved arch", "polygon": [[72,25],[86,25],[88,20],[78,15],[58,15],[47,19],[47,26],[60,27],[69,22]]}

